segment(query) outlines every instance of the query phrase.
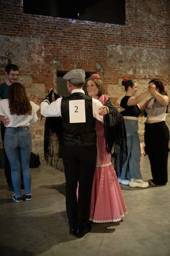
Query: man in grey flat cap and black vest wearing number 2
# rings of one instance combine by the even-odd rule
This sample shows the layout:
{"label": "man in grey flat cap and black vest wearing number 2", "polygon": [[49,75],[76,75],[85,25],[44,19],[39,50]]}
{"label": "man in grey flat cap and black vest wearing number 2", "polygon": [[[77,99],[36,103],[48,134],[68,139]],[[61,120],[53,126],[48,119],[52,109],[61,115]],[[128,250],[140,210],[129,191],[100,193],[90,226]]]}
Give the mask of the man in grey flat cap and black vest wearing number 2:
{"label": "man in grey flat cap and black vest wearing number 2", "polygon": [[41,102],[41,114],[62,116],[66,210],[70,234],[81,238],[91,229],[90,197],[97,159],[95,118],[103,123],[106,109],[100,101],[85,95],[83,69],[72,69],[63,79],[67,80],[70,96],[50,104],[47,95]]}

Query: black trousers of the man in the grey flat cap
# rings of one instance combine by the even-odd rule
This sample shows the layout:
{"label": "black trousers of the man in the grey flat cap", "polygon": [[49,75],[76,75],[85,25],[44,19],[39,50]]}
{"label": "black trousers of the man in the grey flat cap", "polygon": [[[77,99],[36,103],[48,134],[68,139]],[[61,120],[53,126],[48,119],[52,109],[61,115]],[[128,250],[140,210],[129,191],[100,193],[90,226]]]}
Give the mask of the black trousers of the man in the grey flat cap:
{"label": "black trousers of the man in the grey flat cap", "polygon": [[89,221],[97,148],[96,146],[64,145],[62,152],[66,177],[66,210],[69,225],[73,229],[83,229]]}

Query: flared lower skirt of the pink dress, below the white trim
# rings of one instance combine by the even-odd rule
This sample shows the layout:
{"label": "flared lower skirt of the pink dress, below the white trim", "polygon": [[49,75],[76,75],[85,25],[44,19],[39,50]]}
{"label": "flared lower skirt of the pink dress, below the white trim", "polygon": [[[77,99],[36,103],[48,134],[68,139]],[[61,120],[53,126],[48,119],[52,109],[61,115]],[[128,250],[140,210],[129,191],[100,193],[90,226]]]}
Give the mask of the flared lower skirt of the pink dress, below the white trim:
{"label": "flared lower skirt of the pink dress, below the white trim", "polygon": [[114,166],[97,167],[92,187],[90,221],[95,223],[118,222],[126,212]]}

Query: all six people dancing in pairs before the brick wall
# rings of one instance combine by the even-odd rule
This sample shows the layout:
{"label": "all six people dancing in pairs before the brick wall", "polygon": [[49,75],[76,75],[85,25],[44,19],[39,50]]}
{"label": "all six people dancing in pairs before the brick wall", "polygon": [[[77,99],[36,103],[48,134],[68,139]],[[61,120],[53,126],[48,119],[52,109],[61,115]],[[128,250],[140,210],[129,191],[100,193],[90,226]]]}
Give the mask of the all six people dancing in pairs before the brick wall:
{"label": "all six people dancing in pairs before the brick wall", "polygon": [[[18,66],[7,65],[5,75],[5,82],[0,85],[5,177],[9,190],[15,191],[14,202],[30,201],[32,139],[29,125],[37,121],[39,105],[34,102],[36,96],[30,100],[25,86],[17,82]],[[152,79],[148,89],[135,96],[137,83],[124,78],[125,96],[118,112],[109,95],[104,93],[99,74],[86,79],[83,69],[72,69],[63,79],[70,95],[55,94],[53,98],[53,88],[50,88],[41,102],[41,115],[62,120],[60,146],[66,177],[69,232],[81,238],[90,232],[90,222],[116,222],[123,218],[126,204],[120,183],[147,188],[168,182],[169,129],[165,119],[169,98],[159,79]],[[87,95],[83,90],[85,83]],[[140,171],[138,118],[142,113],[146,116],[144,143],[152,172],[152,179],[148,181],[143,180]],[[55,121],[52,119],[50,123],[56,126]],[[113,151],[115,166],[111,162]]]}

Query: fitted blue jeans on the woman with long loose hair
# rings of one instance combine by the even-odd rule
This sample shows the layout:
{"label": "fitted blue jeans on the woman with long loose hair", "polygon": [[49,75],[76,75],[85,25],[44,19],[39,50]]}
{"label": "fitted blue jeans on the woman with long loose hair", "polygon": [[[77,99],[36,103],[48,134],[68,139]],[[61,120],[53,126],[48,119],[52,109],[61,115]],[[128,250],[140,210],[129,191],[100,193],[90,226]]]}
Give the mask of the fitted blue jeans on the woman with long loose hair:
{"label": "fitted blue jeans on the woman with long loose hair", "polygon": [[31,172],[29,160],[32,140],[29,127],[7,127],[4,148],[10,162],[12,184],[16,197],[21,196],[21,174],[24,181],[25,194],[30,194]]}

